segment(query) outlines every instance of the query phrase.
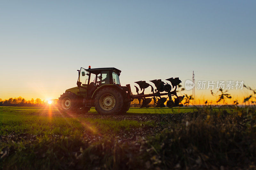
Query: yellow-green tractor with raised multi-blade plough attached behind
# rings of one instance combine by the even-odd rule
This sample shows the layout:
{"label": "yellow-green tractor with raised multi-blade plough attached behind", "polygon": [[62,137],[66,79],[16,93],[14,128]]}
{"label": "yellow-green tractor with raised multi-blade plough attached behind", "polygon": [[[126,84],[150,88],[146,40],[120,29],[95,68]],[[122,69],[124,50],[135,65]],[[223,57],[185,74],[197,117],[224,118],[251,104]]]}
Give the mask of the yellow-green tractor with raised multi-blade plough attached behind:
{"label": "yellow-green tractor with raised multi-blade plough attached behind", "polygon": [[[137,94],[132,94],[130,84],[121,86],[119,76],[121,70],[116,68],[95,68],[88,69],[81,67],[78,71],[78,80],[76,87],[67,89],[65,93],[60,95],[58,100],[58,108],[62,113],[87,113],[91,107],[95,107],[96,111],[102,115],[115,115],[126,113],[130,106],[131,101],[138,99],[142,100],[142,107],[149,107],[148,104],[154,100],[156,107],[165,107],[164,102],[167,100],[163,95],[168,95],[167,107],[181,107],[180,102],[184,96],[177,96],[176,88],[180,84],[179,78],[166,79],[171,84],[164,83],[161,79],[151,80],[156,86],[153,86],[145,81],[135,82],[139,88],[135,86]],[[152,94],[144,94],[147,87],[151,87]],[[175,89],[171,92],[172,88]],[[165,91],[165,92],[164,92]],[[164,93],[161,93],[164,92]],[[177,98],[173,101],[172,96]],[[153,97],[153,98],[148,98]],[[159,99],[158,99],[159,97]]]}

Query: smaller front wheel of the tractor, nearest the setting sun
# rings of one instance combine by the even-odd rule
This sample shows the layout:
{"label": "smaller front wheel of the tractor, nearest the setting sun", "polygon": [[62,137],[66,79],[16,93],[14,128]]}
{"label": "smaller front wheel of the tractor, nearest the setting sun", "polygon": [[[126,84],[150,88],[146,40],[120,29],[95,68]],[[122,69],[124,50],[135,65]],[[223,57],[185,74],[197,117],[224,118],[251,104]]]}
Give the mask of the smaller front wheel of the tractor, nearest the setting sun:
{"label": "smaller front wheel of the tractor, nearest the setting sun", "polygon": [[76,113],[77,97],[75,93],[66,92],[60,95],[58,100],[58,109],[62,113]]}

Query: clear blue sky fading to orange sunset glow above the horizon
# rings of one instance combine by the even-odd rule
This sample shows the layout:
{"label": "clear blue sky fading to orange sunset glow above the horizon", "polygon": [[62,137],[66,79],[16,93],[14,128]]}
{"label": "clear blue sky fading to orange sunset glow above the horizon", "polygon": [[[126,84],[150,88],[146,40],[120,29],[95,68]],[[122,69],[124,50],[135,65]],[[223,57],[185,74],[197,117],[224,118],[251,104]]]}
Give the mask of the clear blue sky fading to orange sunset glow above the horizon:
{"label": "clear blue sky fading to orange sunset glow above the horizon", "polygon": [[[180,77],[184,86],[193,70],[196,83],[254,88],[255,8],[236,0],[1,1],[0,98],[58,98],[89,65],[122,70],[133,93],[139,80]],[[196,89],[196,99],[215,100],[209,89]]]}

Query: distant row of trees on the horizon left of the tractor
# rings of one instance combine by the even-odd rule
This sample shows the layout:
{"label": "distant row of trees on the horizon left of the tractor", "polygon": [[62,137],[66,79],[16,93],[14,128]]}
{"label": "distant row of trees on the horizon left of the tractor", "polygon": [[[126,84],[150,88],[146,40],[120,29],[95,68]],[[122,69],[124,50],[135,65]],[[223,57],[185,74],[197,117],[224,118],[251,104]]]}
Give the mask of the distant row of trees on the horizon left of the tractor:
{"label": "distant row of trees on the horizon left of the tractor", "polygon": [[[53,99],[52,103],[57,103],[58,99]],[[10,98],[8,100],[0,99],[0,106],[25,106],[25,107],[36,107],[36,106],[46,106],[48,105],[47,100],[41,100],[33,98],[31,100],[25,100],[21,96],[18,98]]]}

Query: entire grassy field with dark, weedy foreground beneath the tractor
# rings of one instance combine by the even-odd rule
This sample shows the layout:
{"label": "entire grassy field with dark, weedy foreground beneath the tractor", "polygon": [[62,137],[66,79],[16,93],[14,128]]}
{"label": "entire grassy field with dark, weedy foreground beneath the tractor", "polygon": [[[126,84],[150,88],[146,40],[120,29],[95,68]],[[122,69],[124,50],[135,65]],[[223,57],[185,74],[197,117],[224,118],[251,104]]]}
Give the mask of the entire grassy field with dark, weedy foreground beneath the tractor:
{"label": "entire grassy field with dark, weedy foreground beneath the tractor", "polygon": [[256,168],[255,108],[0,107],[3,169]]}

